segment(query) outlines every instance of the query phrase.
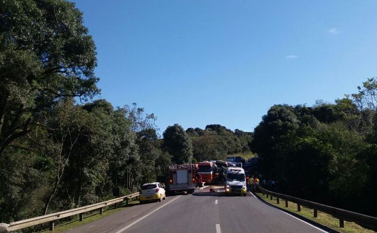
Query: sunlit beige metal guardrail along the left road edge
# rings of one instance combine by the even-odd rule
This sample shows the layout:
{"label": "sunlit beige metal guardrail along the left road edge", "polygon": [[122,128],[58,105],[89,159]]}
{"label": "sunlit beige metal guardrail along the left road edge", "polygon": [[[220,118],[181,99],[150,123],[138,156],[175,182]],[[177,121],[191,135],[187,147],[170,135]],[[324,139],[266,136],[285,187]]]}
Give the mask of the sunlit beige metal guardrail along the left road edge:
{"label": "sunlit beige metal guardrail along the left road edge", "polygon": [[67,210],[67,211],[62,211],[62,212],[57,212],[57,213],[50,213],[50,214],[46,214],[46,215],[39,216],[39,217],[24,219],[24,220],[20,220],[20,221],[17,221],[17,222],[11,222],[9,224],[0,223],[0,233],[9,233],[9,232],[21,230],[21,229],[24,229],[24,228],[40,225],[40,224],[43,224],[43,223],[49,223],[50,231],[53,231],[54,230],[54,221],[56,221],[56,220],[79,214],[80,221],[82,221],[83,220],[83,213],[85,213],[85,212],[99,210],[99,213],[102,214],[102,208],[110,206],[112,204],[115,205],[115,208],[118,208],[119,202],[126,201],[126,203],[128,204],[128,201],[131,198],[137,197],[139,195],[140,195],[139,192],[135,192],[135,193],[127,195],[127,196],[114,198],[114,199],[111,199],[111,200],[108,200],[108,201],[103,201],[103,202],[100,202],[100,203],[92,204],[92,205],[89,205],[89,206],[83,206],[83,207],[79,207],[79,208],[72,209],[72,210]]}

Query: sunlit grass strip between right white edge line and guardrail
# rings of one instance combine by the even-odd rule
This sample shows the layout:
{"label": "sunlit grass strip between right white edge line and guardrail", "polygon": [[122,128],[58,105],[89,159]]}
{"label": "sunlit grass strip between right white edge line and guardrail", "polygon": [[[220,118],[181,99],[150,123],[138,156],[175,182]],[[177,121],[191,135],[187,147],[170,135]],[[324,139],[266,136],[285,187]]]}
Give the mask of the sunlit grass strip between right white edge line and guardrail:
{"label": "sunlit grass strip between right white edge line and guardrail", "polygon": [[318,211],[317,217],[313,217],[314,211],[312,209],[306,208],[301,206],[301,211],[297,211],[297,204],[288,202],[288,208],[286,208],[285,201],[280,199],[280,204],[276,204],[276,197],[273,197],[272,200],[270,200],[270,196],[268,198],[266,195],[263,195],[262,193],[256,193],[258,196],[260,196],[263,200],[266,202],[278,206],[284,210],[288,210],[290,212],[294,212],[296,214],[299,214],[301,216],[304,216],[314,222],[320,223],[324,226],[330,227],[338,232],[344,232],[344,233],[375,233],[375,231],[365,229],[361,227],[360,225],[354,223],[354,222],[347,222],[344,221],[344,228],[339,227],[339,219],[333,217],[330,214],[320,212]]}

